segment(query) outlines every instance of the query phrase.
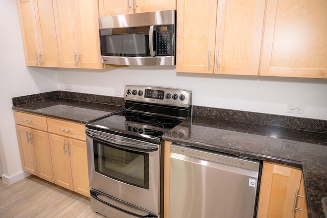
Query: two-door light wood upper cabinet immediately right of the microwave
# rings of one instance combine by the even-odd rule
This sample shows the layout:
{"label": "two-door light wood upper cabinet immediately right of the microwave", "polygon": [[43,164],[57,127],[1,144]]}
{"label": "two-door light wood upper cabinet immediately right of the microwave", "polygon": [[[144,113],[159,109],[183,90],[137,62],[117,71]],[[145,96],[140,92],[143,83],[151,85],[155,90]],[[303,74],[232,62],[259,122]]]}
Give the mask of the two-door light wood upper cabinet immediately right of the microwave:
{"label": "two-door light wood upper cabinet immediately right of the microwave", "polygon": [[258,75],[265,2],[177,1],[176,71]]}

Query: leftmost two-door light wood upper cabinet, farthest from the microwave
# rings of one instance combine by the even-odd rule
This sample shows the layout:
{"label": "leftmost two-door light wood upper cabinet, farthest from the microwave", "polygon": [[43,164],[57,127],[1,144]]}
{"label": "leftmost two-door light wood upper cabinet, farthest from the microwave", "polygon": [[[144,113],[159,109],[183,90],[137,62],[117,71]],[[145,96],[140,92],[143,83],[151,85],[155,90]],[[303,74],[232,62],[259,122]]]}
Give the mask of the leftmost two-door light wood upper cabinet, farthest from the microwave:
{"label": "leftmost two-door light wood upper cabinet, farthest from the microwave", "polygon": [[59,67],[51,0],[17,0],[27,66]]}

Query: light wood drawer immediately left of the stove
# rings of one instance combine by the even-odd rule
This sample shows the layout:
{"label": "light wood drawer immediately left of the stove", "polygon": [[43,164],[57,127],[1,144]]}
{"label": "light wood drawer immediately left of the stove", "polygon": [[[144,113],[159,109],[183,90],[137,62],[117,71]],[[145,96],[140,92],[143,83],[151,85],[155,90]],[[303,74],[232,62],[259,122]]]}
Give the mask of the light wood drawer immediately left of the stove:
{"label": "light wood drawer immediately left of the stove", "polygon": [[85,141],[85,125],[72,122],[66,122],[59,119],[46,118],[48,122],[48,131],[58,135],[76,138]]}

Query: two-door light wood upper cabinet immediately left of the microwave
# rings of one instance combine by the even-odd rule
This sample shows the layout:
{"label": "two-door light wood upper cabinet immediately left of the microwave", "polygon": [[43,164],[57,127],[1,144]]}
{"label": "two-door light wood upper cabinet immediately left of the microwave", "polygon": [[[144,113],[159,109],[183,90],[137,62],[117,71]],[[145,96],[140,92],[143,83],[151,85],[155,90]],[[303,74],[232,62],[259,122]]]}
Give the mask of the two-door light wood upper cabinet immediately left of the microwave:
{"label": "two-door light wood upper cabinet immediately left of the microwave", "polygon": [[97,0],[53,0],[60,66],[102,69]]}

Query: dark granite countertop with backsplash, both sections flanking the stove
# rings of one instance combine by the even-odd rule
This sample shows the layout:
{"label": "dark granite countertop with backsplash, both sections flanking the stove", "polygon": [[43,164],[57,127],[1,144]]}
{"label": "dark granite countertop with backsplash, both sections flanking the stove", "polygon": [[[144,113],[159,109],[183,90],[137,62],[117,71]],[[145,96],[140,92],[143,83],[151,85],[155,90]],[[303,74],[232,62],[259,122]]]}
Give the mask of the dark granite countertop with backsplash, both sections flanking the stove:
{"label": "dark granite countertop with backsplash, both sections flanking the stove", "polygon": [[[82,124],[124,108],[123,98],[66,91],[16,97],[12,103],[13,110]],[[193,106],[193,117],[162,138],[302,168],[309,217],[324,217],[321,199],[327,197],[326,120]]]}

